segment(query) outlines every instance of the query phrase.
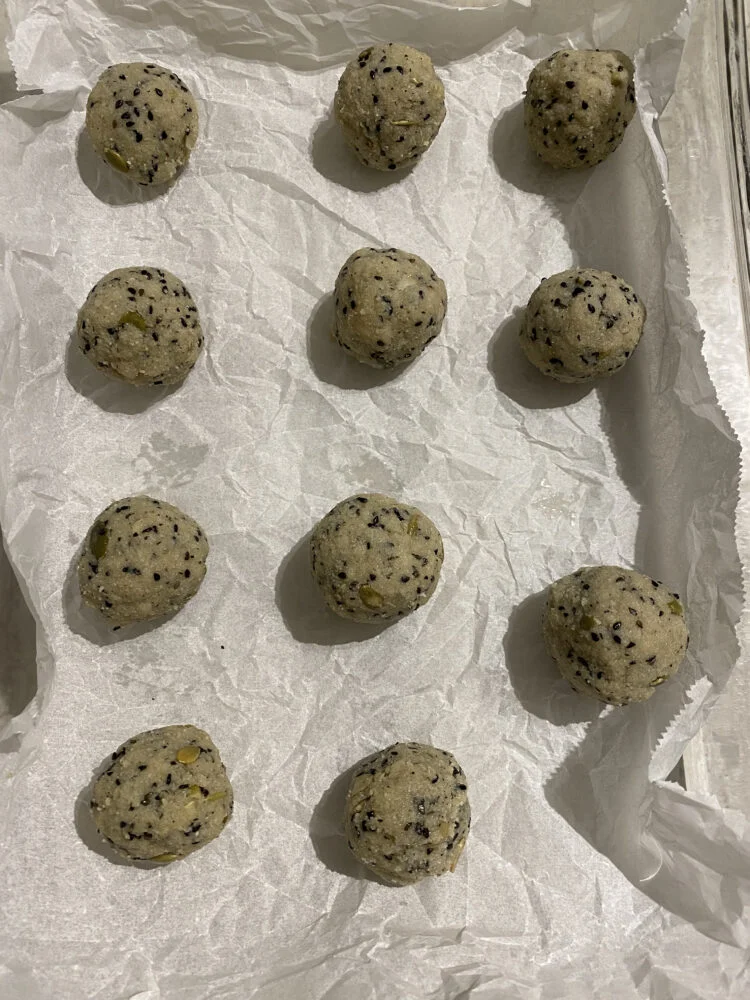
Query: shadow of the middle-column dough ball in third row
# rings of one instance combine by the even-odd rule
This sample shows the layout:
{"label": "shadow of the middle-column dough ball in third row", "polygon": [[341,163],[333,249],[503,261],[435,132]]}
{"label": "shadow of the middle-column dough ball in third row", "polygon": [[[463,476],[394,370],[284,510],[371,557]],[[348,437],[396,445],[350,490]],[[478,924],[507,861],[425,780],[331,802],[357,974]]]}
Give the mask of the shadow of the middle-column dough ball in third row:
{"label": "shadow of the middle-column dough ball in third row", "polygon": [[309,531],[297,542],[276,574],[276,606],[293,638],[318,646],[339,646],[374,639],[395,624],[350,622],[328,608],[310,568],[311,535]]}

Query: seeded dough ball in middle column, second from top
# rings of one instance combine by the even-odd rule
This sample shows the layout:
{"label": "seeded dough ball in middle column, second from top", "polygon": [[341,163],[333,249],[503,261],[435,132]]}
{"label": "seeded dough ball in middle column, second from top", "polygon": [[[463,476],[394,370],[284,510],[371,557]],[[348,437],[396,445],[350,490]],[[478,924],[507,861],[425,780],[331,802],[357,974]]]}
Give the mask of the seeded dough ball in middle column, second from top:
{"label": "seeded dough ball in middle column, second from top", "polygon": [[405,250],[357,250],[336,279],[336,340],[357,361],[393,368],[423,351],[445,318],[445,284]]}

